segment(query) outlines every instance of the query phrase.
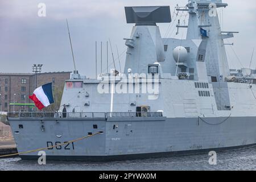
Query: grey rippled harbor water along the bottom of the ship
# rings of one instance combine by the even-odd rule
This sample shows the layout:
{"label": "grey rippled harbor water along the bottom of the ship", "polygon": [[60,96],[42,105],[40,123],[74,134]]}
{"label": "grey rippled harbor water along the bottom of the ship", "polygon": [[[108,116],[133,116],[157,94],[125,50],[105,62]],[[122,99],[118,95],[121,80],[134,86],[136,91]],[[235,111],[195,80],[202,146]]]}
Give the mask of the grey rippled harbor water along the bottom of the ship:
{"label": "grey rippled harbor water along the bottom of the ship", "polygon": [[216,165],[210,165],[209,158],[210,156],[208,154],[200,154],[104,163],[47,161],[46,165],[39,165],[37,161],[21,160],[20,158],[7,158],[0,159],[0,170],[256,170],[256,147],[218,152]]}

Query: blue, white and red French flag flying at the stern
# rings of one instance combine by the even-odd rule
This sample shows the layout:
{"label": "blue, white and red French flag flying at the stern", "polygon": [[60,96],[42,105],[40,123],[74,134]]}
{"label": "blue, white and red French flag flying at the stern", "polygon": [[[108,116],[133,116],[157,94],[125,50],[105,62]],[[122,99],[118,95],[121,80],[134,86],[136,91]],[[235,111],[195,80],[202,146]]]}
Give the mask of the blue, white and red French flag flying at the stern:
{"label": "blue, white and red French flag flying at the stern", "polygon": [[35,102],[35,106],[38,109],[43,109],[51,105],[54,100],[52,96],[52,83],[45,84],[34,90],[30,99]]}

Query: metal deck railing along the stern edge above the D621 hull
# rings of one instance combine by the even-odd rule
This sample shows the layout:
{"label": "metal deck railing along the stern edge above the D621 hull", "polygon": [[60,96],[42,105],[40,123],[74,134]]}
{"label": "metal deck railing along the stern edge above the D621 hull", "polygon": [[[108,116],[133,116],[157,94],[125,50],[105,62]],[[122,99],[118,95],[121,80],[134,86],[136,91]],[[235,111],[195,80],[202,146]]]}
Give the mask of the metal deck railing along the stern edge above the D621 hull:
{"label": "metal deck railing along the stern edge above the D621 hull", "polygon": [[163,117],[162,112],[10,112],[9,118],[127,118],[127,117]]}

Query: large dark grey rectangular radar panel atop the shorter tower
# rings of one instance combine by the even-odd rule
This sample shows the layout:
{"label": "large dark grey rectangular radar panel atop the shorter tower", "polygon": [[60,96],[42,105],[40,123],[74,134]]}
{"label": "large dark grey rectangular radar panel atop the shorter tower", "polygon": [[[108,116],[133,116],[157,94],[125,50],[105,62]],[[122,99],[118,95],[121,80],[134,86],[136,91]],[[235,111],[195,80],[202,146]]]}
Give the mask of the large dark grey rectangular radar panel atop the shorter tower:
{"label": "large dark grey rectangular radar panel atop the shorter tower", "polygon": [[171,22],[170,6],[125,7],[125,14],[126,22],[137,26]]}

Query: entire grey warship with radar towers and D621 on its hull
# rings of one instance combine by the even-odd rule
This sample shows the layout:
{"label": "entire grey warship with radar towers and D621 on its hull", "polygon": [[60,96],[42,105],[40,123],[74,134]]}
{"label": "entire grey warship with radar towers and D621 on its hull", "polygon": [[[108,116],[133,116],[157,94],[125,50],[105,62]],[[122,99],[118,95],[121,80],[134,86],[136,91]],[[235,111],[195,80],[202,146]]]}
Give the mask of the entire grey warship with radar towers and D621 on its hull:
{"label": "entire grey warship with radar towers and D621 on its hull", "polygon": [[[126,160],[190,155],[256,143],[256,85],[230,75],[221,30],[221,0],[189,1],[185,39],[162,38],[156,23],[170,23],[169,6],[125,7],[135,26],[124,71],[97,78],[73,73],[60,111],[8,113],[19,152],[51,147],[52,160]],[[93,135],[100,133],[97,135]],[[56,144],[92,137],[65,146]],[[38,159],[37,152],[21,154]]]}

